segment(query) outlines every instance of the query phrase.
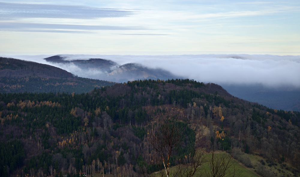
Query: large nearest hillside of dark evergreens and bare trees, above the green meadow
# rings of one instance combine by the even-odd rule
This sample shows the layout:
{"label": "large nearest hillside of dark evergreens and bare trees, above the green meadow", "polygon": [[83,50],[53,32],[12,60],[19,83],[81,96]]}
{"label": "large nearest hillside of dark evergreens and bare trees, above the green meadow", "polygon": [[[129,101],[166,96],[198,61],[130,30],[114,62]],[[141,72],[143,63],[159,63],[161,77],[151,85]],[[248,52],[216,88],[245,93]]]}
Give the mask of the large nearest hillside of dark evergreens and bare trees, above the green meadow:
{"label": "large nearest hillside of dark evergreens and bare trees, above the green meadow", "polygon": [[[0,176],[147,176],[163,168],[151,135],[164,125],[181,130],[170,166],[191,163],[196,149],[214,148],[261,176],[271,174],[268,164],[289,162],[295,176],[300,169],[299,112],[189,79],[140,80],[82,94],[1,93],[0,120]],[[268,164],[251,164],[245,153]]]}

